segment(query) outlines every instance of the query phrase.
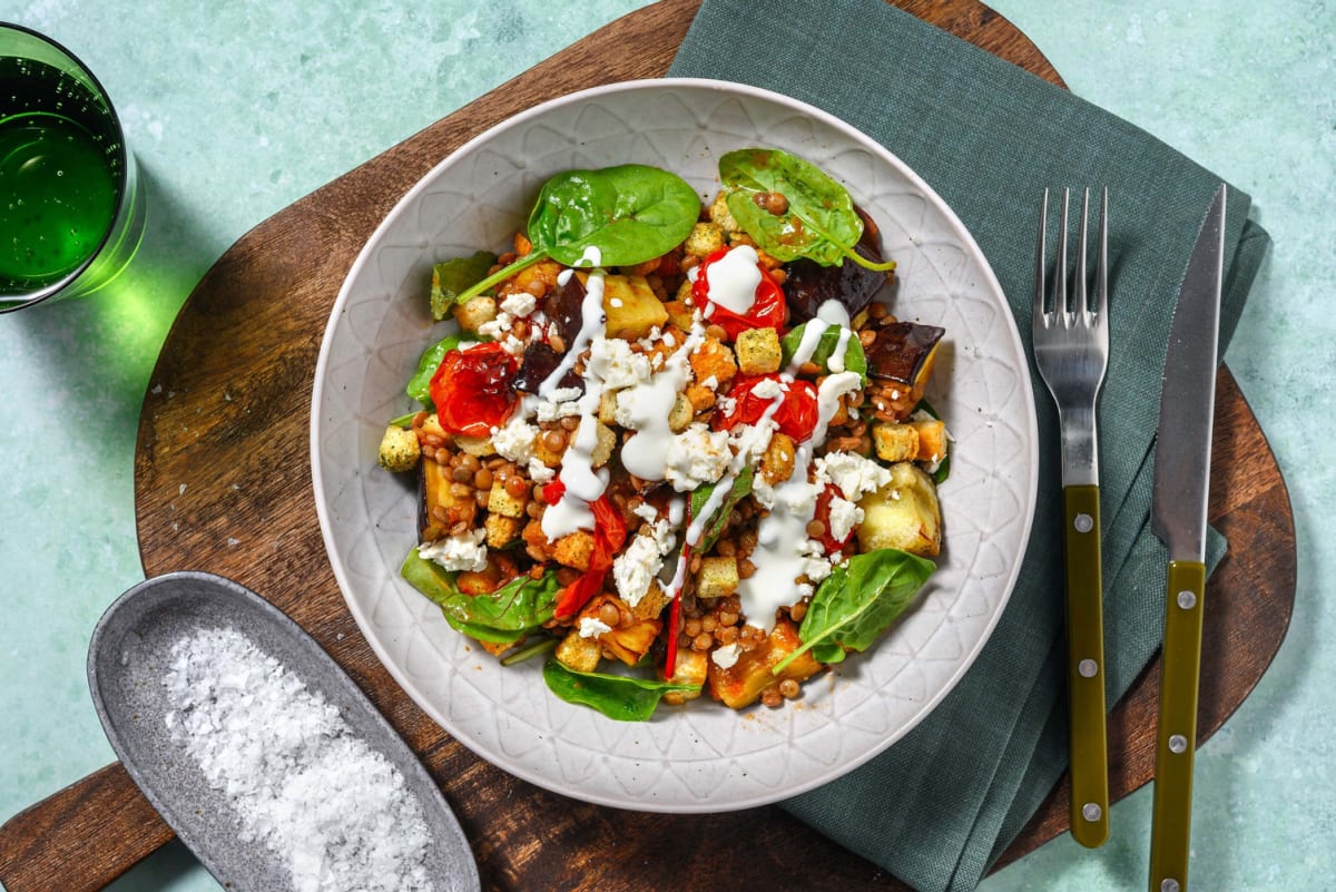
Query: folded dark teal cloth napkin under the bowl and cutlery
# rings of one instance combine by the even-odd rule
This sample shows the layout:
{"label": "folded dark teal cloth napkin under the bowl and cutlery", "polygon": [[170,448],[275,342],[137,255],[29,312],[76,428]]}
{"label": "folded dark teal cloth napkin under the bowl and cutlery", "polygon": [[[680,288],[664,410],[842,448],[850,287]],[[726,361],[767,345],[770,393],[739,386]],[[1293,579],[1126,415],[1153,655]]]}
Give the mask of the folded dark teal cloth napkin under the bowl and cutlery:
{"label": "folded dark teal cloth napkin under the bowl and cutlery", "polygon": [[[1108,186],[1113,355],[1100,405],[1108,693],[1162,637],[1149,529],[1169,320],[1220,178],[1113,115],[883,0],[705,0],[669,71],[794,96],[926,179],[974,235],[1029,342],[1043,187]],[[1222,345],[1269,244],[1232,190]],[[1027,345],[1029,346],[1029,345]],[[1058,427],[1037,373],[1038,510],[1019,581],[953,693],[878,758],[784,804],[925,892],[973,889],[1066,769]],[[950,522],[950,521],[947,521]],[[1214,535],[1209,565],[1225,550]]]}

